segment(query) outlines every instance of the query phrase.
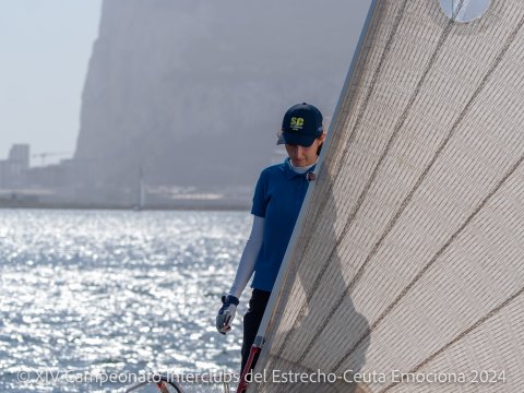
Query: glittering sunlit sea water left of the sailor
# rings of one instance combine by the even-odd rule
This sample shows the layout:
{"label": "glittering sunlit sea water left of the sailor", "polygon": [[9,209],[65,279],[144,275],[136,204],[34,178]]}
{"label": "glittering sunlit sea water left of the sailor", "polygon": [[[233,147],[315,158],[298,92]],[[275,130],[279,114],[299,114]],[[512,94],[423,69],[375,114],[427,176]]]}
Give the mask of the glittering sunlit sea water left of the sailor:
{"label": "glittering sunlit sea water left of the sailor", "polygon": [[241,318],[225,336],[214,320],[250,225],[248,212],[0,210],[0,392],[237,371]]}

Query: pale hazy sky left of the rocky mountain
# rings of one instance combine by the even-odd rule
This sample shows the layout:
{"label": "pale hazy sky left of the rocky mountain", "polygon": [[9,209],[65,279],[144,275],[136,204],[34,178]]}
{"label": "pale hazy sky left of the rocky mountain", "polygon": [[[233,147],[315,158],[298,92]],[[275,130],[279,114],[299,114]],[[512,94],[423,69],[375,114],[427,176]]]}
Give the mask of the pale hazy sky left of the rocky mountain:
{"label": "pale hazy sky left of the rocky mountain", "polygon": [[[102,0],[0,0],[0,158],[13,143],[73,154]],[[40,158],[33,158],[34,165]]]}

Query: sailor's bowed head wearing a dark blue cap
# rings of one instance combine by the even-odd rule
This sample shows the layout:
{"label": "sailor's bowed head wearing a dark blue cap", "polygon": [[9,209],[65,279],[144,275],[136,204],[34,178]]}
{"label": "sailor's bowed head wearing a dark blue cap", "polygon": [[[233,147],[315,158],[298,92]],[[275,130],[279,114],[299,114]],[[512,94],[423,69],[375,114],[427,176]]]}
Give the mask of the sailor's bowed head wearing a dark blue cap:
{"label": "sailor's bowed head wearing a dark blue cap", "polygon": [[313,105],[302,103],[284,115],[277,144],[285,144],[291,164],[302,167],[317,162],[324,139],[322,114]]}

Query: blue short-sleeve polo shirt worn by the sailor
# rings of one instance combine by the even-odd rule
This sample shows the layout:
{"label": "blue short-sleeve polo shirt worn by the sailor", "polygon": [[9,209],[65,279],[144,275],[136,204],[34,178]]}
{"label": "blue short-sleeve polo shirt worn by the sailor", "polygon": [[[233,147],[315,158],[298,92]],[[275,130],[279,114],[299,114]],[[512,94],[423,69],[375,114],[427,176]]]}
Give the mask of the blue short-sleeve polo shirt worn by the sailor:
{"label": "blue short-sleeve polo shirt worn by the sailor", "polygon": [[265,168],[254,190],[251,214],[264,217],[264,238],[251,284],[255,289],[273,289],[308,190],[307,174],[297,174],[288,160]]}

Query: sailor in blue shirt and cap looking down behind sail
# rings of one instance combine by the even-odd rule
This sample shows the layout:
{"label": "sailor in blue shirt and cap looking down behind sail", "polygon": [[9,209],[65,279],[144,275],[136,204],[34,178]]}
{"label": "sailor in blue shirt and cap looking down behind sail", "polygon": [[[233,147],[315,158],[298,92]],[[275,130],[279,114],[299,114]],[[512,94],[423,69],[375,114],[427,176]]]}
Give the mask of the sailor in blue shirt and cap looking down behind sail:
{"label": "sailor in blue shirt and cap looking down behind sail", "polygon": [[[240,371],[245,369],[257,336],[324,139],[320,110],[306,103],[293,106],[284,116],[277,141],[277,144],[285,144],[289,157],[283,164],[265,168],[257,182],[251,235],[235,281],[216,315],[218,332],[229,332],[238,299],[254,272],[252,296],[243,317]],[[251,368],[255,362],[257,358]]]}

